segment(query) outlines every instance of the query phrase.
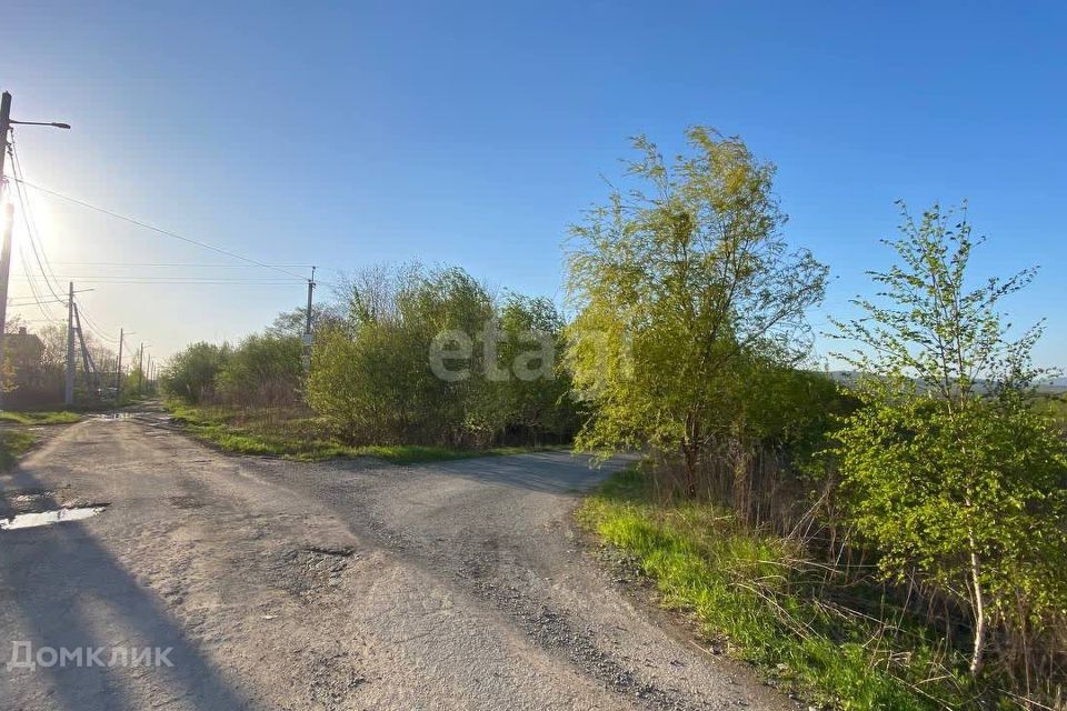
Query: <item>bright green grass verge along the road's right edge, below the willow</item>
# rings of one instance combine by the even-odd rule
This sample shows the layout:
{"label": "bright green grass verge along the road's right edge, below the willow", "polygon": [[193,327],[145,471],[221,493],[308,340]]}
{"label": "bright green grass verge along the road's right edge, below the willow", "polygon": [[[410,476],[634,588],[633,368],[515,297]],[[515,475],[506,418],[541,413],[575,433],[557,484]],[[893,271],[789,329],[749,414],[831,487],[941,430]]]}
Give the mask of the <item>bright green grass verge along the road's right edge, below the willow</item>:
{"label": "bright green grass verge along the road's right edge, below the willow", "polygon": [[660,503],[636,469],[611,478],[577,515],[634,559],[665,607],[691,613],[731,655],[812,701],[841,709],[966,708],[961,674],[927,681],[940,670],[933,631],[842,614],[841,605],[828,604],[841,591],[827,589],[821,575],[812,580],[796,543],[746,530],[708,503]]}

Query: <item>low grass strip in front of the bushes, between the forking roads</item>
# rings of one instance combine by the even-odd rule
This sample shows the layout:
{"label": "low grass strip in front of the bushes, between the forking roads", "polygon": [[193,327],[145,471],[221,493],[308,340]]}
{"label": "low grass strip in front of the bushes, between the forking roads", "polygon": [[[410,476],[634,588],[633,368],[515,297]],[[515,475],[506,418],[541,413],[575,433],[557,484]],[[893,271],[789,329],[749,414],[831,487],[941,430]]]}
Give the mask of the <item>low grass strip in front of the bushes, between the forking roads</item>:
{"label": "low grass strip in front of the bushes, between the forking roads", "polygon": [[189,434],[236,454],[283,457],[300,461],[376,457],[393,464],[416,464],[548,449],[498,447],[461,450],[427,444],[351,447],[327,435],[328,430],[321,420],[296,409],[242,411],[220,407],[193,408],[173,402],[168,403],[167,408]]}

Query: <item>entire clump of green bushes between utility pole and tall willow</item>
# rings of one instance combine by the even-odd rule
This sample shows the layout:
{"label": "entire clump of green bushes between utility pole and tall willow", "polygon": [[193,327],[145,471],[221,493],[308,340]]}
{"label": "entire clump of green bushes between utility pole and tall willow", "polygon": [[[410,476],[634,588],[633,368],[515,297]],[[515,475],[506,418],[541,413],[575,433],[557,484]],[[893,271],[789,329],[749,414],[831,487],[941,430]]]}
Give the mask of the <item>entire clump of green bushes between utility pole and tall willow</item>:
{"label": "entire clump of green bushes between utility pole and tall willow", "polygon": [[549,301],[501,304],[457,268],[375,269],[350,289],[347,317],[317,337],[309,384],[309,403],[345,439],[485,445],[574,427],[566,379],[550,365],[529,379],[513,369],[541,336],[554,358],[561,318]]}

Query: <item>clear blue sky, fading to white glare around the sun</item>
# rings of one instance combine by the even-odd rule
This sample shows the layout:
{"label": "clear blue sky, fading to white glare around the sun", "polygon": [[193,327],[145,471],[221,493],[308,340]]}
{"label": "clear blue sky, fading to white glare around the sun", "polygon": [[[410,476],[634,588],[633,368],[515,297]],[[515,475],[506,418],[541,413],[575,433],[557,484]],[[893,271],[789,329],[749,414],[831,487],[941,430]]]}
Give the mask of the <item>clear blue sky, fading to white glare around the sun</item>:
{"label": "clear blue sky, fading to white glare around the sun", "polygon": [[[567,226],[627,138],[671,153],[704,123],[778,164],[790,241],[835,276],[817,324],[887,264],[896,199],[967,198],[990,238],[976,273],[1043,267],[1011,316],[1047,317],[1038,358],[1067,365],[1063,3],[91,4],[8,4],[0,24],[16,118],[74,126],[16,136],[27,178],[60,192],[272,263],[419,259],[560,298]],[[303,299],[239,262],[116,267],[228,260],[33,208],[101,330],[158,356]],[[189,276],[228,283],[173,283]]]}

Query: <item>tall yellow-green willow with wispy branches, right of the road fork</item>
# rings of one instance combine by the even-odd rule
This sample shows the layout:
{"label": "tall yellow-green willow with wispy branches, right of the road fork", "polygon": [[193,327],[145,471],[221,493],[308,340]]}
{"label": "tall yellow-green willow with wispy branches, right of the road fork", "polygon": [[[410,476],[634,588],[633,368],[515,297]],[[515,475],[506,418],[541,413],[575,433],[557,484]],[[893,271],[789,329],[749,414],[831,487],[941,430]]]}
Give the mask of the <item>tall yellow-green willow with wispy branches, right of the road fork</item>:
{"label": "tall yellow-green willow with wispy branches, right of the road fork", "polygon": [[568,362],[594,412],[578,444],[677,457],[695,495],[701,461],[738,427],[739,379],[805,352],[827,268],[787,246],[772,164],[739,138],[686,136],[669,164],[637,138],[632,187],[571,228]]}

